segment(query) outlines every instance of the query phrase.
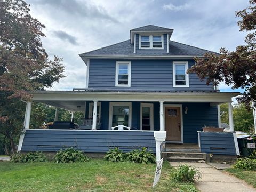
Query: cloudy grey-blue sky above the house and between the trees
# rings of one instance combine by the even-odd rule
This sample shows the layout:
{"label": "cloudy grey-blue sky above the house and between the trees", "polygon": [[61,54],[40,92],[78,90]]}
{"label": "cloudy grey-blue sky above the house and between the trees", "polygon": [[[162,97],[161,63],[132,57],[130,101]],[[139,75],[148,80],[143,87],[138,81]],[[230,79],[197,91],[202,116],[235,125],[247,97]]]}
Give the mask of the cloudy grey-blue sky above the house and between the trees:
{"label": "cloudy grey-blue sky above the house and between the trees", "polygon": [[[27,0],[31,15],[41,21],[46,37],[43,46],[50,57],[63,58],[66,78],[53,90],[85,87],[86,65],[79,57],[103,46],[130,38],[130,29],[157,25],[174,29],[171,39],[206,50],[220,47],[234,51],[244,44],[235,11],[244,9],[246,0]],[[231,91],[223,84],[221,91]]]}

